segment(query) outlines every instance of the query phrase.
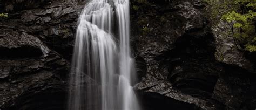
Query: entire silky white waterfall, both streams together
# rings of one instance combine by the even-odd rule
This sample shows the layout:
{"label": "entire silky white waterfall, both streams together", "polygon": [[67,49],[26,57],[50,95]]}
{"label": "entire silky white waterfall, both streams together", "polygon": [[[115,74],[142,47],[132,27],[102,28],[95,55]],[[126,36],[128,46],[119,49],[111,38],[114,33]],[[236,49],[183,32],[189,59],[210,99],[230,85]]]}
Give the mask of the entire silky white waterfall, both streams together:
{"label": "entire silky white waterfall, both streams together", "polygon": [[[113,36],[114,10],[119,44]],[[139,110],[131,86],[134,64],[129,39],[129,0],[86,4],[76,32],[68,109]]]}

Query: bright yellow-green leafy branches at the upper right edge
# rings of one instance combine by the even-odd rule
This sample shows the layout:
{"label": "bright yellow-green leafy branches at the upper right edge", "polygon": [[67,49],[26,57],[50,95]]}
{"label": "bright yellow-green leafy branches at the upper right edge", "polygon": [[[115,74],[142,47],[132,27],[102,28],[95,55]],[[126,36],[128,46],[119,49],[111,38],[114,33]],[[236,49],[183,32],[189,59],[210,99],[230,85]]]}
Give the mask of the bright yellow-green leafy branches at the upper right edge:
{"label": "bright yellow-green leafy branches at the upper right edge", "polygon": [[221,20],[226,22],[232,31],[237,44],[250,52],[256,52],[256,3],[237,2],[239,10],[225,13]]}

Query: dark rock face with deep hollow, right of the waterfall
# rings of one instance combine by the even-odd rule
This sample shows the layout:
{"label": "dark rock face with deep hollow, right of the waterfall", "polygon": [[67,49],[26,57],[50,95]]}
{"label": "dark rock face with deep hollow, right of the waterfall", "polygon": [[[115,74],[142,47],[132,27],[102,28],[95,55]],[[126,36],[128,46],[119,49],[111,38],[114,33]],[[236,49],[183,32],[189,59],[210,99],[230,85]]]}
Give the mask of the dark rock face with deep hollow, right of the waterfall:
{"label": "dark rock face with deep hollow, right of the waterfall", "polygon": [[187,109],[255,109],[254,63],[225,36],[224,24],[210,25],[203,3],[133,1],[131,7],[143,107],[158,104],[145,100],[156,95],[196,106]]}

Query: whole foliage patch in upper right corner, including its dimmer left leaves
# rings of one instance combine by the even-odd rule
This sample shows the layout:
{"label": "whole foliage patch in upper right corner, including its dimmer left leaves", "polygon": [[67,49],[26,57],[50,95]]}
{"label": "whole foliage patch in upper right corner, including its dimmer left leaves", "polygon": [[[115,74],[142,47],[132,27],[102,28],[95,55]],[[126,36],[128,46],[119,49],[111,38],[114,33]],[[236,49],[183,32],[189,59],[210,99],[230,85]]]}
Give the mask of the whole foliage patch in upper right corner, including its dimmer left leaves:
{"label": "whole foliage patch in upper right corner, including its dimmer left leaves", "polygon": [[204,1],[212,6],[212,16],[220,16],[228,24],[237,45],[250,52],[256,51],[255,0]]}

